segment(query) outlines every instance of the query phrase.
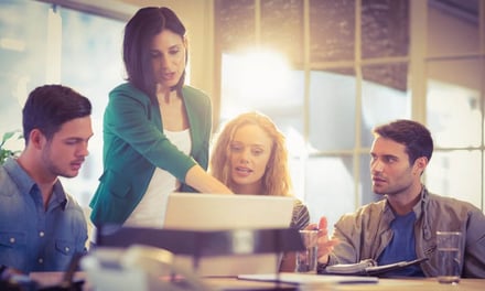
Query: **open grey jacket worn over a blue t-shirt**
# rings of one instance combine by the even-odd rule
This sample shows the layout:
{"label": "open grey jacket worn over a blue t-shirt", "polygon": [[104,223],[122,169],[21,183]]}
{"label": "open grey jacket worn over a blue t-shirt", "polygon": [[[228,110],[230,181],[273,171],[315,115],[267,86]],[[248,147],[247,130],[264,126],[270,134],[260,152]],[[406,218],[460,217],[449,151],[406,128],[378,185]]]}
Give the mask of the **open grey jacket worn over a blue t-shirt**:
{"label": "open grey jacket worn over a blue t-shirt", "polygon": [[[428,257],[421,263],[427,277],[438,274],[436,230],[460,230],[463,234],[461,257],[462,277],[485,278],[485,216],[472,204],[428,193],[423,187],[420,202],[413,207],[416,256]],[[392,238],[390,223],[395,219],[387,200],[362,206],[335,224],[335,246],[328,265],[354,263],[375,259]]]}

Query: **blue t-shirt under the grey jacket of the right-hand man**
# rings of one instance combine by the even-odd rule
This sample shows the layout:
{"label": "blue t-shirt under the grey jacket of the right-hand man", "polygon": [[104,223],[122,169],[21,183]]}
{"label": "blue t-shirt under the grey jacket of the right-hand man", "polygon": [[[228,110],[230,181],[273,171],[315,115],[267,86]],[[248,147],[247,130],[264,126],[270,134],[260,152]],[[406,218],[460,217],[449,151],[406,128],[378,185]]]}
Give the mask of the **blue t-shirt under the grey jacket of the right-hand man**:
{"label": "blue t-shirt under the grey jacket of the right-hand man", "polygon": [[[410,212],[406,215],[396,215],[396,218],[390,224],[394,236],[389,245],[387,245],[380,257],[377,259],[379,266],[417,259],[414,248],[414,212]],[[424,277],[424,273],[417,265],[385,273],[385,277],[400,276]]]}

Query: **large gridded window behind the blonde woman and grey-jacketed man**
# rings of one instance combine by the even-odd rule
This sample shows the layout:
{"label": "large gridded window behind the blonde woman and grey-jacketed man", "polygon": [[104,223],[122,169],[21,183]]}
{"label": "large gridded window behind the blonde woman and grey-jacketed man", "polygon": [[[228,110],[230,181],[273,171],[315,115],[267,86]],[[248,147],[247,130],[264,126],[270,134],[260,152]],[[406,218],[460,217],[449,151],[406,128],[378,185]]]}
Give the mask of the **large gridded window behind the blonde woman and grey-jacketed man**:
{"label": "large gridded window behind the blonde woman and grey-jacketed man", "polygon": [[[446,19],[436,4],[445,7],[444,1],[429,1],[430,52],[440,56],[453,53],[453,37],[438,33],[450,25],[463,40],[456,48],[472,52],[475,58],[454,55],[444,63],[429,58],[423,68],[425,60],[411,54],[410,40],[421,34],[427,22],[418,19],[421,25],[411,25],[410,13],[427,10],[425,2],[215,1],[222,121],[245,110],[259,110],[276,121],[287,134],[297,195],[306,202],[313,222],[325,215],[335,223],[342,214],[380,198],[370,187],[370,130],[398,118],[425,120],[433,132],[436,150],[424,177],[430,191],[482,207],[479,84],[485,69],[483,55],[477,55],[478,9],[467,8],[475,11],[476,22],[466,24],[462,18]],[[433,51],[439,47],[446,50]],[[238,74],[248,64],[242,61],[245,52],[251,50],[277,52],[289,65],[289,77],[276,75],[282,69],[271,73],[268,67],[272,65],[261,60],[252,63],[251,72],[265,71],[263,83],[246,84],[248,78]],[[411,62],[421,63],[411,72]],[[455,74],[456,69],[463,74]],[[418,86],[413,77],[425,72],[428,97],[423,101],[409,86]],[[285,86],[282,90],[281,84]],[[459,174],[463,171],[472,174],[464,177]]]}

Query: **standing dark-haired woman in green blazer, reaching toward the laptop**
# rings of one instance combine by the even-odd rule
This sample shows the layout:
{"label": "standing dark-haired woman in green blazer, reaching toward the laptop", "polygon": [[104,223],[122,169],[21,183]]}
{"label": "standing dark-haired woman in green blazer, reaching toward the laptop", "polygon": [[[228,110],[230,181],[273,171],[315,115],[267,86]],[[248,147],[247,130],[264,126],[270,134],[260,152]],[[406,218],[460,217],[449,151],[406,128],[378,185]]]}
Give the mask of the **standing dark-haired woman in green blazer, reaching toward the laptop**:
{"label": "standing dark-haired woman in green blazer, reaching toward the laptop", "polygon": [[128,82],[109,94],[104,173],[90,202],[95,226],[163,226],[169,193],[231,193],[205,172],[211,99],[184,85],[185,28],[169,8],[142,8],[127,23]]}

